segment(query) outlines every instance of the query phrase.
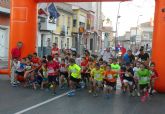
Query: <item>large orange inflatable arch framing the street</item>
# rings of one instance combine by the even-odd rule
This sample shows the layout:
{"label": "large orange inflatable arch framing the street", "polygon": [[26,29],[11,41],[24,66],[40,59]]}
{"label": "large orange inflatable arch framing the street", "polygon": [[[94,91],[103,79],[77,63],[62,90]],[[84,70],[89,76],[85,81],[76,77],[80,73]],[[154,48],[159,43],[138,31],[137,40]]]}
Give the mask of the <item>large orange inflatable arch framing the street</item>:
{"label": "large orange inflatable arch framing the street", "polygon": [[[24,43],[22,57],[36,50],[37,32],[37,3],[38,2],[101,2],[101,1],[129,1],[129,0],[11,0],[10,19],[10,52],[16,42]],[[165,0],[156,0],[155,26],[153,39],[152,60],[157,65],[159,79],[156,81],[156,90],[165,92]],[[0,73],[9,73],[9,70],[1,70]]]}

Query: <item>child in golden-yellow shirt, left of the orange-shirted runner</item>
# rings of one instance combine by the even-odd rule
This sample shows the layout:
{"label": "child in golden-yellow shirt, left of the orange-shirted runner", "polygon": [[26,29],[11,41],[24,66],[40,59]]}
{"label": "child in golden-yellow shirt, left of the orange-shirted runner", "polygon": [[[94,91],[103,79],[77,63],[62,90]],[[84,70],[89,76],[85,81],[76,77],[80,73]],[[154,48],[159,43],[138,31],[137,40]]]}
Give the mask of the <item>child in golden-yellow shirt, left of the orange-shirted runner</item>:
{"label": "child in golden-yellow shirt, left of the orange-shirted runner", "polygon": [[100,92],[100,88],[102,87],[103,74],[104,74],[104,70],[100,68],[99,63],[96,63],[95,68],[91,71],[91,76],[93,77],[92,83],[93,83],[94,97],[98,96],[98,92]]}

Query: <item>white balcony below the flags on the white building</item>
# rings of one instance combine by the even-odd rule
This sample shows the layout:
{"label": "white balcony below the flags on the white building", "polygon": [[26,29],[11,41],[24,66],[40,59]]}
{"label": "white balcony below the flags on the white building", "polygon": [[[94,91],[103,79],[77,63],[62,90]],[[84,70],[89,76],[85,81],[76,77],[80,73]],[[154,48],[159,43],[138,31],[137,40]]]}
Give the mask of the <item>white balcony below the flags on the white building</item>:
{"label": "white balcony below the flags on the white building", "polygon": [[49,18],[40,17],[40,30],[54,31],[56,29],[56,23]]}

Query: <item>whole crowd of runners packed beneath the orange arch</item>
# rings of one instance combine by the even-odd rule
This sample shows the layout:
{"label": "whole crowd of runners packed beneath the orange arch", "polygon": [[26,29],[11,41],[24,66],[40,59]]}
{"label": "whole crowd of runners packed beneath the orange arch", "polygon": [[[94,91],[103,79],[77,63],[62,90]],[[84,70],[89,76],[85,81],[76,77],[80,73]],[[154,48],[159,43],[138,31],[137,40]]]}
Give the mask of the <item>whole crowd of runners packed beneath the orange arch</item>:
{"label": "whole crowd of runners packed beneath the orange arch", "polygon": [[[145,101],[153,95],[154,83],[158,78],[155,63],[150,61],[144,47],[134,56],[127,50],[121,57],[91,55],[85,50],[79,55],[75,50],[60,50],[53,44],[50,55],[38,57],[37,53],[21,58],[22,43],[13,48],[11,85],[32,87],[34,90],[52,91],[69,89],[68,96],[75,96],[77,89],[86,88],[94,97],[110,98],[121,81],[121,91],[130,96],[139,96]],[[108,50],[109,51],[109,50]]]}

